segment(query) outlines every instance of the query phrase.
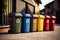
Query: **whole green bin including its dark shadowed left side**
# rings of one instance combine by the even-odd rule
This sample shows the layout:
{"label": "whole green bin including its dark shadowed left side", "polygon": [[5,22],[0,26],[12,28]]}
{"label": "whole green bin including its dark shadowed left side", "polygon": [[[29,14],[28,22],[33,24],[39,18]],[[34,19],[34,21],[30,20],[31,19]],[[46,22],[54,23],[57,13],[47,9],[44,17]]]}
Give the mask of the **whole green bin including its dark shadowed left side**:
{"label": "whole green bin including its dark shadowed left side", "polygon": [[13,14],[12,23],[10,23],[10,32],[11,33],[20,33],[21,32],[21,21],[22,21],[22,14],[21,13],[14,13]]}

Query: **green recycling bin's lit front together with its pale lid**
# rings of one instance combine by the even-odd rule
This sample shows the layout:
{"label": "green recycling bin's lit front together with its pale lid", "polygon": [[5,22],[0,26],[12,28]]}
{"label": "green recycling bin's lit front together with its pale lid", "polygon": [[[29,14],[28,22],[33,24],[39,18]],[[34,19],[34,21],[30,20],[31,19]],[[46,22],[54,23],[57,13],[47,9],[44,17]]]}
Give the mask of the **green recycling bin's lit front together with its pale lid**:
{"label": "green recycling bin's lit front together with its pale lid", "polygon": [[22,20],[21,18],[22,18],[21,13],[15,13],[15,17],[13,19],[14,33],[21,32],[21,20]]}

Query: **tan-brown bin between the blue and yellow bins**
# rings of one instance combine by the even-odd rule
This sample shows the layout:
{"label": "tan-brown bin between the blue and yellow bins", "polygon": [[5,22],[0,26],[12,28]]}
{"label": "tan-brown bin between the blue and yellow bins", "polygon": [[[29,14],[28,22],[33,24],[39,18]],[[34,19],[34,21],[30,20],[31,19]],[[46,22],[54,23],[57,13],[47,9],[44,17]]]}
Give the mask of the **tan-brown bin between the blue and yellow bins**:
{"label": "tan-brown bin between the blue and yellow bins", "polygon": [[32,18],[31,18],[31,32],[36,32],[37,31],[37,19],[38,19],[38,15],[36,15],[36,14],[32,15]]}

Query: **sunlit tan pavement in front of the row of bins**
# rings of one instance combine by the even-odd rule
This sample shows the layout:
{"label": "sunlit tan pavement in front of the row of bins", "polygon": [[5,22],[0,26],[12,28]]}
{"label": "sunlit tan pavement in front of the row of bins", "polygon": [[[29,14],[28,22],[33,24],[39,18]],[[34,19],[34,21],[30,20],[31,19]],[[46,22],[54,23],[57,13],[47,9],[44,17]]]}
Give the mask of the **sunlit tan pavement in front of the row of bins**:
{"label": "sunlit tan pavement in front of the row of bins", "polygon": [[57,25],[55,31],[0,34],[0,40],[60,40],[60,26]]}

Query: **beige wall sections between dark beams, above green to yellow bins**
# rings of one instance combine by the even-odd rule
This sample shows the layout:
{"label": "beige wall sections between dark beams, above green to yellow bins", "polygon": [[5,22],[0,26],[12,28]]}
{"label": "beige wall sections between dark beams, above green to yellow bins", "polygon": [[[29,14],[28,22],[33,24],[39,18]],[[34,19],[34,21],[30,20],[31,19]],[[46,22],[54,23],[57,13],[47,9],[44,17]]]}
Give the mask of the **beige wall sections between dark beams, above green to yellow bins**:
{"label": "beige wall sections between dark beams, above green to yellow bins", "polygon": [[[39,12],[39,6],[34,2],[34,0],[25,0],[33,5],[35,5],[35,13]],[[25,3],[22,2],[21,0],[16,0],[16,11],[21,12],[25,8]],[[33,7],[29,5],[29,9],[31,12],[33,12]]]}

